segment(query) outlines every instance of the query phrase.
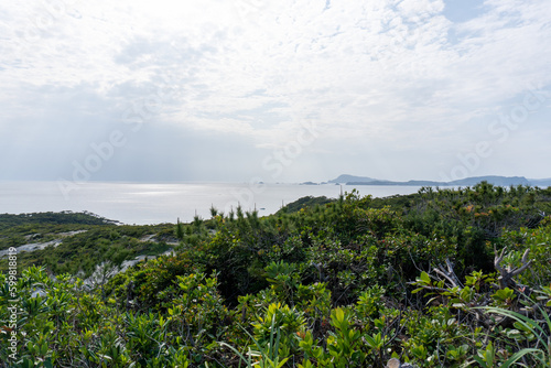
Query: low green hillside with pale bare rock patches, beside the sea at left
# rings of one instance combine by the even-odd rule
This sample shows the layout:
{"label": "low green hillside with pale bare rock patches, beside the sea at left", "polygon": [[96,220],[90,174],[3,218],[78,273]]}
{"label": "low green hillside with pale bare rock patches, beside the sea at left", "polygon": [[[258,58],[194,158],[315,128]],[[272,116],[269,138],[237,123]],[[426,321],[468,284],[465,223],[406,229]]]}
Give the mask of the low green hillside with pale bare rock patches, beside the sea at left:
{"label": "low green hillside with pale bare rock patches, beside the sea at left", "polygon": [[[18,267],[43,266],[53,274],[88,278],[99,264],[114,267],[137,256],[156,256],[175,241],[173,225],[117,225],[90,213],[0,215],[0,251],[23,245],[46,245],[18,253]],[[169,243],[168,243],[169,242]],[[8,258],[0,258],[2,270]]]}

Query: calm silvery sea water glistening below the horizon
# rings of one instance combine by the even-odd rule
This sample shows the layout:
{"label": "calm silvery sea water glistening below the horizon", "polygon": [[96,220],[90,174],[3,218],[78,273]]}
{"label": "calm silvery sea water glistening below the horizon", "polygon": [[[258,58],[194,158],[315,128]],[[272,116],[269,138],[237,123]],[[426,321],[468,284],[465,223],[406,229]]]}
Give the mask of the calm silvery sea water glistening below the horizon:
{"label": "calm silvery sea water glistening below the horizon", "polygon": [[[418,186],[343,185],[344,192],[356,188],[361,195],[385,197],[415,193]],[[225,213],[240,204],[258,209],[259,215],[276,213],[282,205],[304,196],[336,198],[341,186],[264,184],[260,187],[228,183],[97,183],[60,187],[56,182],[0,182],[0,213],[88,210],[125,224],[191,221],[194,215],[209,218],[210,206]]]}

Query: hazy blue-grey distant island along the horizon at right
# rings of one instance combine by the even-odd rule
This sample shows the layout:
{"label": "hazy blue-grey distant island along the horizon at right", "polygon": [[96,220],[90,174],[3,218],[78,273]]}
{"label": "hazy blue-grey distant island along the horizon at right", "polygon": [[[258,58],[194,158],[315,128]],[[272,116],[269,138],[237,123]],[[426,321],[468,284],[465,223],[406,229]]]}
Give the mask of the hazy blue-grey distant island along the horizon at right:
{"label": "hazy blue-grey distant island along the horizon at right", "polygon": [[409,186],[471,186],[480,182],[488,182],[497,186],[510,185],[531,185],[531,186],[551,186],[551,178],[526,178],[525,176],[475,176],[465,177],[451,182],[435,182],[435,181],[408,181],[408,182],[393,182],[388,180],[379,180],[367,176],[354,175],[339,175],[336,178],[328,181],[331,184],[345,184],[345,185],[409,185]]}

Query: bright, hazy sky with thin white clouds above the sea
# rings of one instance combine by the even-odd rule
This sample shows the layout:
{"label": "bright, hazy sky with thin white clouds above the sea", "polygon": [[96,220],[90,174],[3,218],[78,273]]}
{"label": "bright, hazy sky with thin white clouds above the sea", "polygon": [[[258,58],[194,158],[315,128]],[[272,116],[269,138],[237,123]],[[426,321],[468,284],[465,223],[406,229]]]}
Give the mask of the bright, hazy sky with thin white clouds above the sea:
{"label": "bright, hazy sky with thin white clouds above the sea", "polygon": [[0,180],[551,177],[549,0],[3,0]]}

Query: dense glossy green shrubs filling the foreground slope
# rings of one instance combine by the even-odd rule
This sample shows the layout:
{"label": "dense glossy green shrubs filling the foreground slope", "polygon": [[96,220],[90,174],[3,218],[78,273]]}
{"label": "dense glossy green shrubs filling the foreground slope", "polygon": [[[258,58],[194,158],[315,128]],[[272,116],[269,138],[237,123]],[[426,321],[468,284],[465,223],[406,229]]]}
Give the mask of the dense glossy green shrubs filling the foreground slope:
{"label": "dense glossy green shrubs filling the foreground slope", "polygon": [[551,188],[320,201],[213,208],[97,288],[25,269],[17,327],[0,277],[4,366],[551,367]]}

